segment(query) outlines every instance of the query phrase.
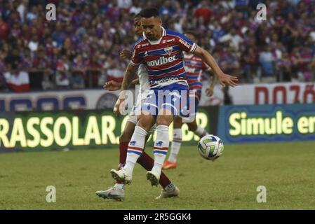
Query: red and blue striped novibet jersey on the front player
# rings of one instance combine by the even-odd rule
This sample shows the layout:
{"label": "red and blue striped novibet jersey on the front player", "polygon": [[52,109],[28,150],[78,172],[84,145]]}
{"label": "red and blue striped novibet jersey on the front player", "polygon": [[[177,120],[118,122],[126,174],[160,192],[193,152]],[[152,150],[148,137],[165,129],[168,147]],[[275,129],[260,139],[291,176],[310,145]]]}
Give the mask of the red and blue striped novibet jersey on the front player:
{"label": "red and blue striped novibet jersey on the front player", "polygon": [[182,51],[194,53],[196,43],[183,34],[161,27],[158,41],[149,41],[145,34],[133,47],[130,65],[147,66],[151,87],[182,83],[187,85]]}

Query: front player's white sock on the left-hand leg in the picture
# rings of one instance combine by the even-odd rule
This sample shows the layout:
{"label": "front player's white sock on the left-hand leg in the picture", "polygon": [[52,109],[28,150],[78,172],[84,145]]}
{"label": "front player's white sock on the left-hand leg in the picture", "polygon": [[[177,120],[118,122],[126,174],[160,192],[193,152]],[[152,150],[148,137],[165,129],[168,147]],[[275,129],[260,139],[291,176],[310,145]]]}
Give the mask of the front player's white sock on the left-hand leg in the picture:
{"label": "front player's white sock on the left-hand leg in the picture", "polygon": [[126,158],[126,171],[130,174],[133,173],[133,168],[135,168],[135,163],[142,154],[143,148],[145,147],[145,137],[147,132],[140,126],[135,126],[135,132],[133,132],[133,137],[128,144],[127,158]]}

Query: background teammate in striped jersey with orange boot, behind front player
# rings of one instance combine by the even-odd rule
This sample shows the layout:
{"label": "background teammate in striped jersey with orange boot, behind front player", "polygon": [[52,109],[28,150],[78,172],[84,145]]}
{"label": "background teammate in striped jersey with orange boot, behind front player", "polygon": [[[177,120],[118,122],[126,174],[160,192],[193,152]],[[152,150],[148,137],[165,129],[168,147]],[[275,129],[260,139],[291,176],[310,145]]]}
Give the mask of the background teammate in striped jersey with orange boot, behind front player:
{"label": "background teammate in striped jersey with orange boot, behind front player", "polygon": [[[196,36],[193,31],[185,32],[185,36],[196,43]],[[185,58],[185,71],[186,71],[186,78],[189,85],[189,94],[192,97],[195,97],[195,113],[193,116],[196,115],[196,111],[199,107],[199,101],[201,99],[201,89],[202,89],[202,78],[201,74],[203,71],[206,71],[210,76],[213,76],[213,81],[211,82],[210,86],[206,89],[206,94],[208,96],[213,94],[213,88],[215,83],[217,83],[217,76],[215,76],[210,69],[210,67],[205,64],[202,59],[196,55],[187,54],[184,52]],[[173,121],[173,142],[170,146],[170,155],[168,160],[164,162],[163,169],[175,169],[177,167],[177,155],[180,153],[180,146],[182,144],[182,120],[185,118],[181,118],[177,116],[174,118]],[[194,132],[198,137],[202,138],[208,134],[203,127],[198,126],[196,123],[196,118],[192,122],[187,122],[188,129],[191,132]]]}

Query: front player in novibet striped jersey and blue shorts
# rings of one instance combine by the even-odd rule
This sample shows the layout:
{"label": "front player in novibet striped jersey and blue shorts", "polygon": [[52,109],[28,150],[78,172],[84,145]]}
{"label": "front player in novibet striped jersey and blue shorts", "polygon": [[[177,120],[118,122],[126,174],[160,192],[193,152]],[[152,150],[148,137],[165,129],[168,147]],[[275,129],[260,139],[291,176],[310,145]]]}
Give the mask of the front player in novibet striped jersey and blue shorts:
{"label": "front player in novibet striped jersey and blue shorts", "polygon": [[[156,8],[145,8],[140,12],[143,37],[133,48],[133,56],[128,65],[121,94],[116,102],[116,113],[125,104],[125,92],[133,80],[133,74],[138,66],[145,63],[149,73],[151,90],[146,102],[142,105],[135,132],[128,144],[126,165],[119,169],[112,169],[114,179],[123,183],[131,183],[135,162],[142,154],[145,138],[150,128],[156,123],[156,141],[154,143],[154,166],[147,172],[147,179],[152,186],[157,186],[161,176],[161,169],[166,158],[169,145],[168,130],[173,116],[180,114],[185,104],[188,84],[185,77],[184,59],[182,51],[195,54],[206,62],[218,76],[220,83],[236,86],[237,78],[224,74],[215,59],[186,36],[161,27],[161,18]],[[160,99],[159,99],[160,98]],[[187,105],[187,104],[186,104]]]}

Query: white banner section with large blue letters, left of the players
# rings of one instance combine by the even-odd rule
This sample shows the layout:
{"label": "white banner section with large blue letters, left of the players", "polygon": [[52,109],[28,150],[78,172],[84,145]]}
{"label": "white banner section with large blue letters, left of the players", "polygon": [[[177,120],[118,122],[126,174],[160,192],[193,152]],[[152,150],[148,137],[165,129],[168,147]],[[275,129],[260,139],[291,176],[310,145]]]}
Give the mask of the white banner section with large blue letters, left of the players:
{"label": "white banner section with large blue letters, left of the players", "polygon": [[102,89],[0,93],[0,112],[112,109],[119,91]]}

